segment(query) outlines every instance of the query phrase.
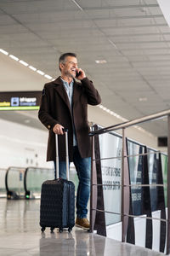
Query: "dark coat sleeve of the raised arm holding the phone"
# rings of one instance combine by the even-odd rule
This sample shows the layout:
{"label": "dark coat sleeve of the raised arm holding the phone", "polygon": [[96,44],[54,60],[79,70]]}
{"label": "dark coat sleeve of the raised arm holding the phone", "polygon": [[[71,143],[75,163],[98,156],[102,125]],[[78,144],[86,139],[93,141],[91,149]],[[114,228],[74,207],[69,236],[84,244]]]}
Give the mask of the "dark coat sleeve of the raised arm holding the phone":
{"label": "dark coat sleeve of the raised arm holding the phone", "polygon": [[88,78],[82,79],[82,86],[84,92],[88,98],[89,105],[98,105],[101,103],[101,97],[99,96],[98,90],[94,88],[94,84]]}

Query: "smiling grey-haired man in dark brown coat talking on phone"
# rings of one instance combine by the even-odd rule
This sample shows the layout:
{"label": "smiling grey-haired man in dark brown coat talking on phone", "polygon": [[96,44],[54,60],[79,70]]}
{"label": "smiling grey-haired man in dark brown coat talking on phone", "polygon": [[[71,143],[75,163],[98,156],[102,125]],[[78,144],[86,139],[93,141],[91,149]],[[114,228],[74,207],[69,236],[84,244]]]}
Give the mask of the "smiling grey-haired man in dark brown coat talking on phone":
{"label": "smiling grey-haired man in dark brown coat talking on phone", "polygon": [[92,81],[78,68],[76,54],[60,55],[59,70],[60,77],[45,84],[42,90],[38,117],[49,130],[47,160],[54,160],[55,168],[55,133],[59,135],[59,177],[62,178],[66,178],[63,128],[69,131],[69,161],[74,162],[79,178],[76,225],[88,230],[87,206],[91,168],[88,104],[97,105],[101,99]]}

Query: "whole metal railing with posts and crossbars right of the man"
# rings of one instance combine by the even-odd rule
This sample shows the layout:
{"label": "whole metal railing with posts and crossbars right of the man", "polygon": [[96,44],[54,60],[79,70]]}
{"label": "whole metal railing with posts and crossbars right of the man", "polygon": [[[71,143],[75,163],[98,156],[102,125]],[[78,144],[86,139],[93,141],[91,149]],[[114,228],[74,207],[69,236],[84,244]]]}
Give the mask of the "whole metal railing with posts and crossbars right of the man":
{"label": "whole metal railing with posts and crossbars right of the man", "polygon": [[[156,119],[162,119],[164,117],[167,117],[167,187],[170,187],[170,109],[161,111],[159,113],[153,113],[147,116],[144,116],[142,118],[139,119],[133,119],[130,121],[126,121],[123,123],[119,123],[117,125],[111,125],[102,129],[98,130],[98,127],[96,125],[94,125],[94,130],[91,131],[89,133],[89,136],[92,137],[92,160],[91,160],[91,165],[92,165],[92,172],[91,172],[91,202],[90,202],[90,208],[91,208],[91,212],[90,212],[90,223],[91,223],[91,232],[94,231],[94,227],[99,231],[99,235],[102,236],[106,236],[106,229],[105,229],[105,215],[98,215],[98,222],[97,224],[94,223],[94,219],[95,219],[95,213],[94,211],[99,211],[100,213],[102,212],[106,212],[105,211],[105,207],[104,207],[104,200],[103,198],[103,194],[99,194],[100,199],[102,201],[102,203],[100,203],[99,208],[97,207],[98,205],[98,201],[96,201],[96,197],[99,193],[99,191],[96,190],[96,187],[105,187],[107,186],[107,184],[103,184],[102,181],[101,183],[98,183],[99,180],[101,180],[101,171],[99,174],[99,177],[97,177],[97,168],[101,170],[101,166],[99,164],[99,160],[101,160],[100,158],[100,154],[98,154],[98,150],[99,150],[99,137],[95,137],[95,135],[101,135],[104,133],[112,133],[113,131],[117,131],[117,130],[122,130],[122,241],[126,241],[126,235],[127,235],[127,216],[130,217],[134,217],[134,215],[130,215],[128,214],[129,211],[129,204],[130,201],[127,202],[127,196],[130,198],[130,194],[129,194],[129,190],[128,188],[130,187],[136,187],[136,184],[129,184],[127,185],[127,180],[129,179],[128,177],[128,173],[127,173],[127,168],[128,168],[128,162],[127,162],[127,158],[130,156],[127,154],[127,137],[126,137],[126,128],[133,126],[133,125],[139,125],[141,123],[144,122],[148,122],[148,121],[152,121],[152,120],[156,120]],[[114,132],[113,132],[114,133]],[[94,144],[97,145],[97,149],[94,148]],[[146,148],[146,146],[144,146],[144,148]],[[152,149],[151,149],[152,150]],[[155,151],[155,150],[154,150]],[[155,151],[156,152],[156,151]],[[148,154],[148,152],[145,151],[144,149],[144,153],[143,154],[139,154],[139,155],[146,155]],[[150,153],[149,153],[150,154]],[[97,164],[95,164],[97,162]],[[162,179],[162,177],[161,177]],[[110,184],[108,185],[110,186]],[[113,184],[111,184],[111,186],[113,186]],[[116,184],[117,186],[117,184]],[[163,188],[164,185],[159,183],[159,184],[139,184],[139,187],[160,187]],[[164,208],[161,209],[162,210],[162,214],[165,215],[165,206]],[[150,209],[151,211],[151,209]],[[147,218],[149,219],[154,219],[151,218],[150,216],[150,211],[147,213]],[[100,220],[101,225],[99,226],[99,219],[102,218],[102,221]],[[164,218],[162,218],[164,219]],[[165,218],[166,219],[166,218]],[[165,220],[164,220],[165,221]],[[166,245],[166,253],[170,253],[170,190],[167,189],[167,245]],[[149,240],[147,241],[147,246],[146,247],[152,247],[151,243],[152,241]],[[161,245],[160,250],[163,250],[165,248],[165,244]],[[162,251],[161,251],[162,252]]]}

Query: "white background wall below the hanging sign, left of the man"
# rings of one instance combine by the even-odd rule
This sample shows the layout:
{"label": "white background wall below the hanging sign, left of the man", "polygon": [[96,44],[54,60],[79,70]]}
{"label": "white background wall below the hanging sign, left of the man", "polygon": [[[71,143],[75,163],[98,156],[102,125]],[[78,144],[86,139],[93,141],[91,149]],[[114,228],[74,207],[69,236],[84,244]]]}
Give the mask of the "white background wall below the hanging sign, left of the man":
{"label": "white background wall below the hanging sign, left of the man", "polygon": [[48,131],[0,119],[0,168],[8,166],[51,167],[46,162]]}

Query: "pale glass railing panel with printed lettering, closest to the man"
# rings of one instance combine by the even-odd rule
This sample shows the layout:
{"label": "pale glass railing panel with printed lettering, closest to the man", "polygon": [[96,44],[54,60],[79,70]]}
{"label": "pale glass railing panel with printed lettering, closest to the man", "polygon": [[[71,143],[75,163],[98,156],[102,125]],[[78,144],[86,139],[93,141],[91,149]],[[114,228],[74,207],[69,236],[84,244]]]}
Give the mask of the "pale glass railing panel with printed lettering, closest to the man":
{"label": "pale glass railing panel with printed lettering, closest to the man", "polygon": [[99,135],[99,150],[104,185],[105,224],[111,225],[121,221],[122,138],[113,133]]}

